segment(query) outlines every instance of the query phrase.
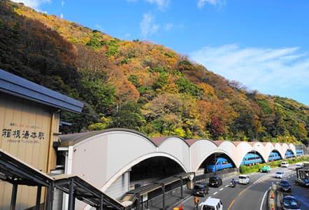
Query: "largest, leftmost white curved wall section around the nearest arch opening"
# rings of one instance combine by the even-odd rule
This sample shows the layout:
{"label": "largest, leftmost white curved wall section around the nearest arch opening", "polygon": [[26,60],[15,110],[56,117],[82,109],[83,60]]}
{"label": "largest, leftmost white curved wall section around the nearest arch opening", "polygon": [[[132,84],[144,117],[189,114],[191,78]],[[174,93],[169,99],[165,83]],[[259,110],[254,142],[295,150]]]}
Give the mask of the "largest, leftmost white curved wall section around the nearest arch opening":
{"label": "largest, leftmost white curved wall section around the nearest arch opening", "polygon": [[79,141],[71,151],[70,174],[77,174],[94,186],[101,186],[136,157],[156,153],[157,147],[136,132],[110,130]]}

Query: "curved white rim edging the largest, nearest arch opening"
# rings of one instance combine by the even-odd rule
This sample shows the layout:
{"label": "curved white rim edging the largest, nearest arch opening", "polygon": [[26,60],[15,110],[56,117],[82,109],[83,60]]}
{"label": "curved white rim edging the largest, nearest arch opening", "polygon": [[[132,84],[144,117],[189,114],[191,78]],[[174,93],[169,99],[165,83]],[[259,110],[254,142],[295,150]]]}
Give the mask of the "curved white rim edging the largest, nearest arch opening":
{"label": "curved white rim edging the largest, nearest arch opening", "polygon": [[165,158],[169,158],[173,161],[175,161],[176,163],[178,163],[178,165],[180,165],[180,167],[182,167],[182,169],[184,170],[184,172],[189,172],[189,170],[185,167],[185,165],[182,164],[182,162],[180,162],[177,158],[173,157],[172,155],[169,155],[168,153],[150,153],[147,155],[144,155],[142,157],[137,158],[136,160],[133,160],[132,162],[129,162],[128,165],[126,165],[125,167],[123,167],[119,172],[117,172],[114,176],[110,177],[110,179],[108,181],[106,181],[106,183],[101,184],[101,191],[106,191],[120,176],[122,176],[122,174],[124,174],[124,172],[129,171],[129,169],[131,169],[131,167],[134,167],[135,165],[138,165],[138,163],[142,162],[143,160],[147,160],[149,158],[155,158],[155,157],[165,157]]}

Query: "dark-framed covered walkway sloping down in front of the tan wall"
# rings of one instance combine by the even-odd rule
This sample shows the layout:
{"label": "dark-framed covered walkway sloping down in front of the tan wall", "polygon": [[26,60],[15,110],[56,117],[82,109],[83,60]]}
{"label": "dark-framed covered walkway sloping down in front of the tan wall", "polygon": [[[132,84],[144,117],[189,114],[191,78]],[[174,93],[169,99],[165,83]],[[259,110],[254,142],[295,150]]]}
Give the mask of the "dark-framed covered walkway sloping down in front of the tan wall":
{"label": "dark-framed covered walkway sloping down in front of the tan wall", "polygon": [[[36,186],[36,206],[34,209],[52,209],[55,188],[69,194],[69,210],[75,209],[76,199],[89,204],[96,209],[125,209],[105,193],[95,188],[79,176],[48,176],[26,163],[14,158],[0,149],[0,179],[12,184],[10,209],[15,209],[18,186]],[[42,197],[42,188],[47,190],[47,196]],[[41,202],[43,203],[41,204]]]}

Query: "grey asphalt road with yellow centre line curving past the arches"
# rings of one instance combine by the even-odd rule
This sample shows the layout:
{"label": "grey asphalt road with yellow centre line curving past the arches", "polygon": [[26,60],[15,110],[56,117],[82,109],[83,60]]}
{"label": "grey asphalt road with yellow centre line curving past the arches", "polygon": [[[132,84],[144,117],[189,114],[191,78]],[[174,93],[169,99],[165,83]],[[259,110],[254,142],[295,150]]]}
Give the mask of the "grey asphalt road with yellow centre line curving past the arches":
{"label": "grey asphalt road with yellow centre line curving past the arches", "polygon": [[[309,209],[309,190],[301,186],[296,186],[294,180],[296,178],[295,166],[289,168],[272,169],[271,173],[254,173],[250,174],[250,184],[237,184],[236,188],[231,188],[229,183],[233,177],[223,180],[223,185],[219,188],[210,188],[210,192],[206,197],[199,197],[200,203],[207,197],[217,197],[223,202],[224,210],[264,210],[266,206],[266,191],[273,183],[279,183],[280,179],[275,179],[273,176],[277,171],[285,172],[285,179],[292,184],[292,193],[301,201],[301,209]],[[237,178],[234,177],[236,180]],[[194,209],[193,197],[190,197],[183,203],[184,209]],[[201,209],[201,206],[199,207]],[[280,210],[280,208],[278,209]]]}

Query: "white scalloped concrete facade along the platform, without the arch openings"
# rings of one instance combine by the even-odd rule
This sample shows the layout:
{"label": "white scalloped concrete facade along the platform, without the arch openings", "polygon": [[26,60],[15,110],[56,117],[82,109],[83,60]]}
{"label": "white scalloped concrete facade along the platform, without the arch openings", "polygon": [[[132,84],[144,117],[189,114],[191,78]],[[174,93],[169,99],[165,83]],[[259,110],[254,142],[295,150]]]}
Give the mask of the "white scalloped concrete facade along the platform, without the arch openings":
{"label": "white scalloped concrete facade along the platform, without the arch openings", "polygon": [[[103,183],[100,188],[104,190],[122,173],[145,158],[163,155],[177,162],[185,172],[194,172],[213,153],[228,155],[236,167],[239,167],[245,154],[250,151],[257,151],[267,161],[271,151],[278,151],[282,156],[286,148],[295,148],[293,144],[287,146],[258,141],[212,141],[183,139],[178,136],[149,138],[136,130],[123,128],[60,135],[59,139],[62,147],[73,147],[72,172],[85,175],[96,185]],[[88,158],[94,162],[93,167],[87,165]],[[80,167],[82,161],[88,169]],[[102,167],[99,172],[98,165]],[[96,175],[87,174],[90,173],[89,170]]]}

